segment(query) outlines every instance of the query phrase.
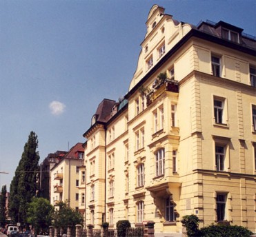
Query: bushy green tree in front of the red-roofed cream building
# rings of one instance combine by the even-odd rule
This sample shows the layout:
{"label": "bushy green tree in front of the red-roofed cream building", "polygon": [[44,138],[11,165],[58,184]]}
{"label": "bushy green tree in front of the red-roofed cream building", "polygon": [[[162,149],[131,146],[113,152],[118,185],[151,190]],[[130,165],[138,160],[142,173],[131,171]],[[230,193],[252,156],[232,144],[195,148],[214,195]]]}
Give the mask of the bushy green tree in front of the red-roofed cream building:
{"label": "bushy green tree in front of the red-roofed cream building", "polygon": [[83,216],[76,212],[75,209],[68,207],[67,203],[60,202],[57,207],[59,209],[56,209],[53,214],[53,225],[55,227],[62,227],[66,232],[68,226],[83,225]]}

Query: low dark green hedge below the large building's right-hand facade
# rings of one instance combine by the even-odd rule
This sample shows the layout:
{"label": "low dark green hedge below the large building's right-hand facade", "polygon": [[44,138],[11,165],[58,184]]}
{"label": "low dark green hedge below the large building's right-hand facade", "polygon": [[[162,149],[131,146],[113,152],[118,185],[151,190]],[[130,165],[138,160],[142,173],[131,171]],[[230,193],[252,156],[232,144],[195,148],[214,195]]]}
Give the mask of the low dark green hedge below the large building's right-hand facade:
{"label": "low dark green hedge below the large building's right-hand facade", "polygon": [[204,237],[250,237],[251,231],[237,225],[210,225],[200,229],[201,236]]}

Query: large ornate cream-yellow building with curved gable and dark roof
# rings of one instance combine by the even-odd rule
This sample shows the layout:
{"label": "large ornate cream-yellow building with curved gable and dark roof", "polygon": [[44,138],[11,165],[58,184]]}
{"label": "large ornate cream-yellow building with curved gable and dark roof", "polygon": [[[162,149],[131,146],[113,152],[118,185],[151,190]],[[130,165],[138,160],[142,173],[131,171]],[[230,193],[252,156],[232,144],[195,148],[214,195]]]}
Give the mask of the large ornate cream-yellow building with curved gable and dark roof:
{"label": "large ornate cream-yellow building with curved gable and dark roof", "polygon": [[152,6],[123,101],[104,99],[86,141],[86,224],[181,218],[255,229],[256,41],[219,21],[178,22]]}

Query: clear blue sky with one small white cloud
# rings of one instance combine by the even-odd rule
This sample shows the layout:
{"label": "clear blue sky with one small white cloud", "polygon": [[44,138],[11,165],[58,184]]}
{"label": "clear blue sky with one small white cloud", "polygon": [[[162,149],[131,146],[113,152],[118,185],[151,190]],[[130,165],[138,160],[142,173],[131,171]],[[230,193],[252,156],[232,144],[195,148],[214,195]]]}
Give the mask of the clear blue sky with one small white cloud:
{"label": "clear blue sky with one small white cloud", "polygon": [[102,99],[128,92],[150,8],[173,19],[226,21],[256,35],[256,1],[0,0],[0,187],[30,131],[41,161],[68,150]]}

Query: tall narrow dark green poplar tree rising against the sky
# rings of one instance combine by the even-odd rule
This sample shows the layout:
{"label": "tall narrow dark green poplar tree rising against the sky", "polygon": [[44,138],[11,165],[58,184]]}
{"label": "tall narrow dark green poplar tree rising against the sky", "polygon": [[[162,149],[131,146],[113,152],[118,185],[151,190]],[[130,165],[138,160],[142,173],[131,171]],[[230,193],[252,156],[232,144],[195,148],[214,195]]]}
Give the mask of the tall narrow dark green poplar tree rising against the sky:
{"label": "tall narrow dark green poplar tree rising against the sky", "polygon": [[37,172],[39,172],[40,159],[37,147],[37,134],[30,132],[10,184],[9,215],[13,222],[26,222],[27,203],[30,203],[37,193]]}

